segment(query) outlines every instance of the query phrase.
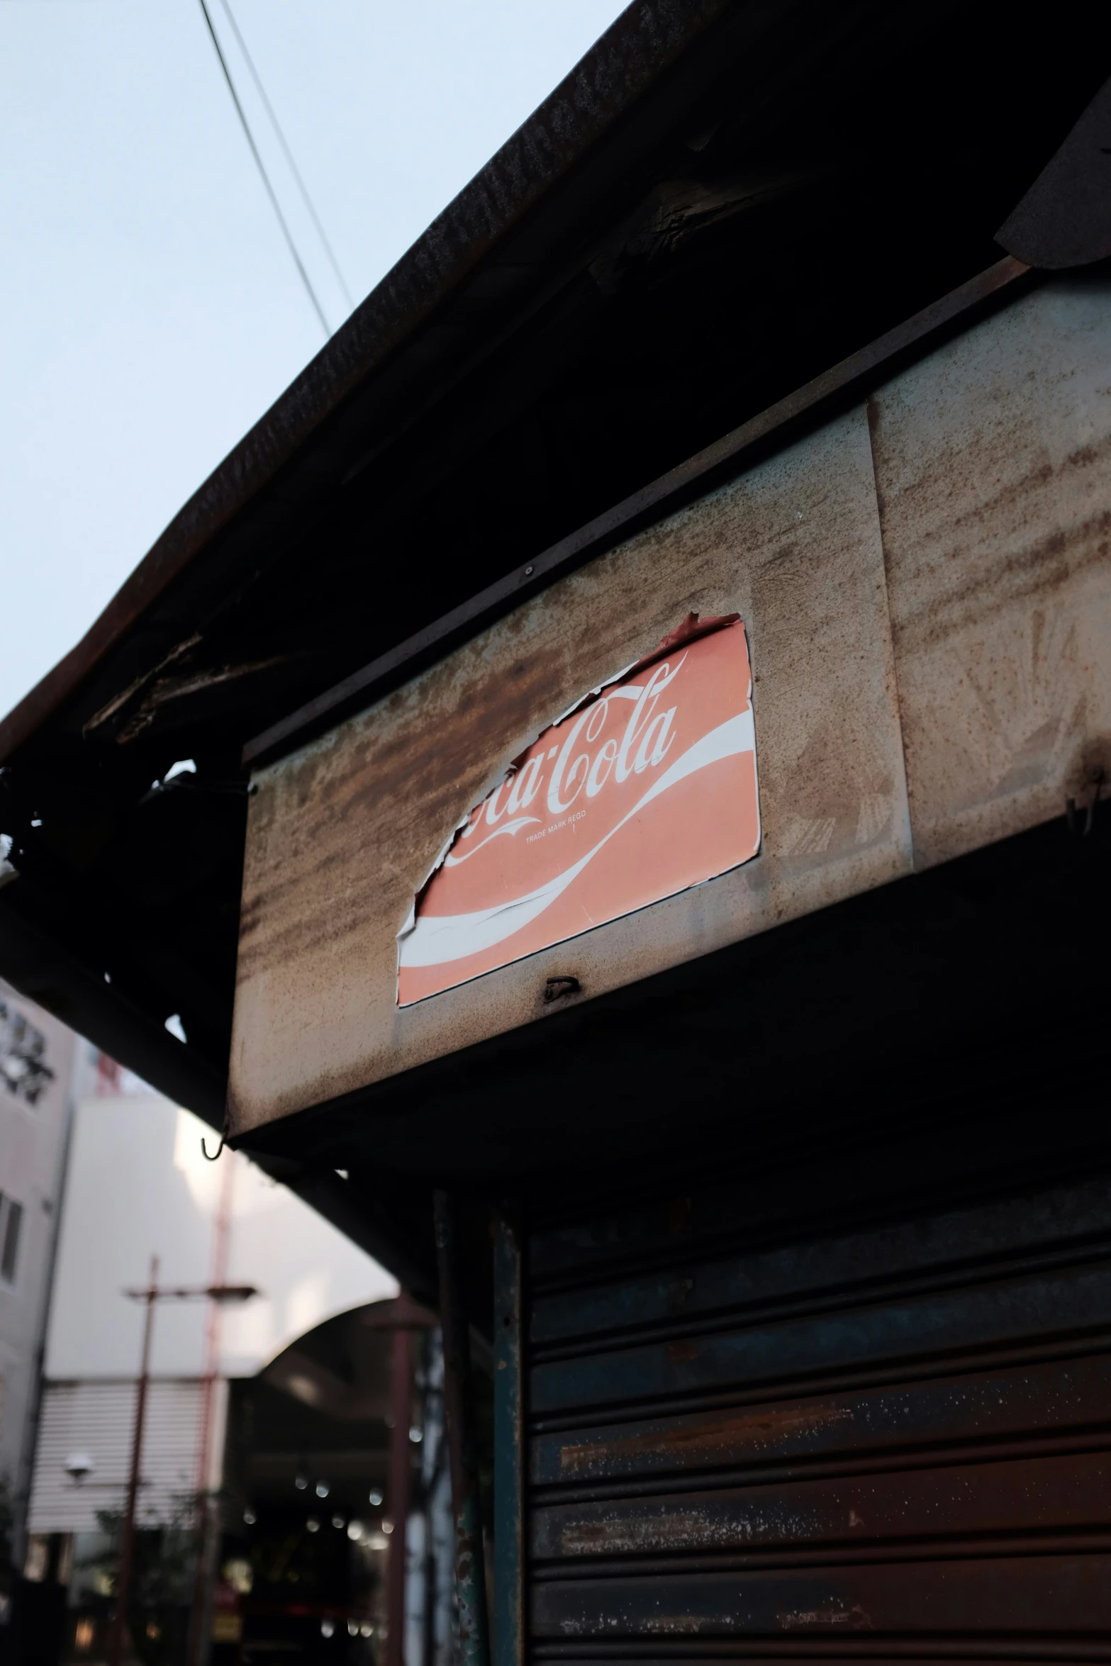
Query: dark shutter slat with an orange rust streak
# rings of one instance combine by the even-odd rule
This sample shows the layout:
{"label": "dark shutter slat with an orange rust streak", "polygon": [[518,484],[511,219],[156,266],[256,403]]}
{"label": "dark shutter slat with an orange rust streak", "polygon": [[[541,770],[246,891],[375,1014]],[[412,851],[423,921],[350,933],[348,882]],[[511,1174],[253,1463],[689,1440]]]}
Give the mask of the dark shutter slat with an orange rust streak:
{"label": "dark shutter slat with an orange rust streak", "polygon": [[843,1466],[846,1454],[856,1464],[908,1449],[921,1459],[958,1443],[998,1454],[1033,1434],[1081,1439],[1108,1424],[1109,1408],[1111,1354],[1098,1353],[535,1434],[530,1479],[536,1488],[620,1488],[655,1478],[650,1484],[660,1486],[665,1476],[703,1469],[756,1479],[770,1468]]}

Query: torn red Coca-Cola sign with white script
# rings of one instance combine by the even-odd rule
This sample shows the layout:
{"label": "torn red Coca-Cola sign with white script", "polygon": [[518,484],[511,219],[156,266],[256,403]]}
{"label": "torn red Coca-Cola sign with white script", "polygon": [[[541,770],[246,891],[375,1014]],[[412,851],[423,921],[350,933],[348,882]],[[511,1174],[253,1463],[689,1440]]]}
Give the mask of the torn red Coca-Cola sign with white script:
{"label": "torn red Coca-Cola sign with white script", "polygon": [[745,626],[690,615],[515,760],[398,938],[410,1006],[760,850]]}

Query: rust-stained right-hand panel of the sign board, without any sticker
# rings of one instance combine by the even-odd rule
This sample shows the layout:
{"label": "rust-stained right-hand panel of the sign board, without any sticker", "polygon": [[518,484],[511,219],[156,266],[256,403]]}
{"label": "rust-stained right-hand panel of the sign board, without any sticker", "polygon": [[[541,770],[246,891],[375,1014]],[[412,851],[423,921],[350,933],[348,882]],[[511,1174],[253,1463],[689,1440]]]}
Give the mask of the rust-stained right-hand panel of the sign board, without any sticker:
{"label": "rust-stained right-hand panel of the sign board, without any sticker", "polygon": [[1111,285],[1036,290],[869,412],[921,868],[1111,776]]}

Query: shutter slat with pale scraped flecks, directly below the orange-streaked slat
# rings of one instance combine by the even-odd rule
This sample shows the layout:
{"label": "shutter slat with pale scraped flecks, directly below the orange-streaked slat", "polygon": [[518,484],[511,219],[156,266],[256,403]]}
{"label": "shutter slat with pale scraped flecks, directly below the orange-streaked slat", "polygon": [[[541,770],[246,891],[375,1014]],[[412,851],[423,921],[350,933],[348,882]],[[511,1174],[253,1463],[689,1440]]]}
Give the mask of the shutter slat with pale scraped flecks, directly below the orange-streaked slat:
{"label": "shutter slat with pale scraped flecks, directly below the orange-streaked slat", "polygon": [[[894,1474],[778,1481],[665,1498],[611,1498],[533,1511],[531,1554],[700,1554],[889,1544],[941,1533],[1108,1531],[1111,1453],[899,1468]],[[1111,1534],[1109,1534],[1111,1539]]]}

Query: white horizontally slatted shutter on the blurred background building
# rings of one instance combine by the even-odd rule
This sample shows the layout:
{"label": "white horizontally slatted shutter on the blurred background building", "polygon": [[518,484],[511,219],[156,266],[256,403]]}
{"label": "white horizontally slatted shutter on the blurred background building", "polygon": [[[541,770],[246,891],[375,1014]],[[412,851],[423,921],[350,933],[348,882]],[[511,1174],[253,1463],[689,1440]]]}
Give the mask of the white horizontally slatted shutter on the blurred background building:
{"label": "white horizontally slatted shutter on the blurred background building", "polygon": [[[153,1381],[147,1398],[140,1523],[167,1521],[197,1484],[202,1384]],[[48,1383],[43,1394],[32,1533],[92,1533],[98,1509],[122,1509],[132,1461],[135,1383]],[[87,1453],[95,1469],[73,1481],[67,1461]]]}

